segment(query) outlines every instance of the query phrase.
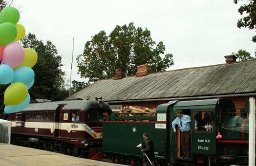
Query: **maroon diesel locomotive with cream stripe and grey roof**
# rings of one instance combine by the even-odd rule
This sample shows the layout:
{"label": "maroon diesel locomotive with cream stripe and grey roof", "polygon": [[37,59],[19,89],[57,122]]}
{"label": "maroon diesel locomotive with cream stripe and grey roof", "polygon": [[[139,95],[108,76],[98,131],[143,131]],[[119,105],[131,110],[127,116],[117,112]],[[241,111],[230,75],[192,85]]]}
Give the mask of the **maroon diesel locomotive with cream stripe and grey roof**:
{"label": "maroon diesel locomotive with cream stripe and grey roof", "polygon": [[[77,121],[72,121],[75,113]],[[84,156],[102,146],[102,121],[112,113],[102,100],[32,103],[8,115],[12,142],[70,155]]]}

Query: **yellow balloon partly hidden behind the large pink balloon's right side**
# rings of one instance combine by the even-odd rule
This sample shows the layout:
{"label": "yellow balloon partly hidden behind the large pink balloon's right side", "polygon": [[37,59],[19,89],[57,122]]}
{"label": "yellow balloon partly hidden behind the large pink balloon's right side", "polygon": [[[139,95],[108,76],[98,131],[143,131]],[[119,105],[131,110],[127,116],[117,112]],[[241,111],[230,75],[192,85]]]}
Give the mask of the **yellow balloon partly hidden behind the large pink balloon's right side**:
{"label": "yellow balloon partly hidden behind the large pink balloon's right side", "polygon": [[33,50],[32,48],[25,48],[24,53],[25,55],[23,61],[15,69],[21,66],[27,66],[32,68],[37,63],[37,52],[35,50]]}

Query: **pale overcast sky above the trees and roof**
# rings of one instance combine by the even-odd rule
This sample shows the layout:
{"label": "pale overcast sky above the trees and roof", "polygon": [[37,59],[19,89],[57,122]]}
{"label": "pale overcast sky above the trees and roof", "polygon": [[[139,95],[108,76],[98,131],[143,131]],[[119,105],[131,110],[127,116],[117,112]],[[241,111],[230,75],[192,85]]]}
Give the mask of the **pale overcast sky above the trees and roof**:
{"label": "pale overcast sky above the trees and roof", "polygon": [[[247,0],[245,0],[246,3]],[[85,42],[116,25],[134,22],[148,28],[157,43],[163,41],[165,54],[174,65],[168,71],[225,63],[224,55],[239,49],[254,56],[255,31],[239,29],[240,4],[233,0],[14,0],[21,13],[26,34],[52,41],[62,55],[66,80],[70,77],[72,38],[74,58],[72,80],[85,81],[77,74],[76,56]]]}

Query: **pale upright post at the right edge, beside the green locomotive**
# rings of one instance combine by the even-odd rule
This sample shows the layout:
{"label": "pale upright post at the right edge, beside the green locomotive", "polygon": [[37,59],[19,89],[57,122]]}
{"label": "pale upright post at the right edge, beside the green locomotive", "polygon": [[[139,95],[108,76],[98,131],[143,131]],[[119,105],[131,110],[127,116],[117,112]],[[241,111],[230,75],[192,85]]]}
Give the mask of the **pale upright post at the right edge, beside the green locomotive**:
{"label": "pale upright post at the right edge, beside the green locomotive", "polygon": [[255,166],[255,98],[249,98],[249,166]]}

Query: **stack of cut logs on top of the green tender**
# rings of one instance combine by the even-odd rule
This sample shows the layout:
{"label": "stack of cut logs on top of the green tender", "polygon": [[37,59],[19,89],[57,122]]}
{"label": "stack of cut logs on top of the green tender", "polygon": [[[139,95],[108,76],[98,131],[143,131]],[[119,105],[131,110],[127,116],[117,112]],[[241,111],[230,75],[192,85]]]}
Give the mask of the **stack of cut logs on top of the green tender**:
{"label": "stack of cut logs on top of the green tender", "polygon": [[149,109],[143,106],[125,106],[120,109],[119,116],[155,116],[156,109]]}

